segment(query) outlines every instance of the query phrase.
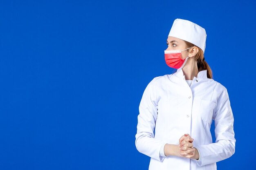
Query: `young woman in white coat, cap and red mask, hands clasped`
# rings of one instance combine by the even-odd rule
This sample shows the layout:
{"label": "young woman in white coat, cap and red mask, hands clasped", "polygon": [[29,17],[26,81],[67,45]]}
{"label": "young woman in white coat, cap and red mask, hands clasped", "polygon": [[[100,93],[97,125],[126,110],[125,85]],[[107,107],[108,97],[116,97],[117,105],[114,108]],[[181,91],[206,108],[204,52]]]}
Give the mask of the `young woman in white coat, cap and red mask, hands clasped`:
{"label": "young woman in white coat, cap and red mask, hands clasped", "polygon": [[164,53],[166,64],[177,71],[155,77],[139,105],[135,145],[151,157],[149,170],[216,170],[216,162],[235,152],[229,96],[212,79],[204,59],[205,42],[201,26],[188,20],[173,22]]}

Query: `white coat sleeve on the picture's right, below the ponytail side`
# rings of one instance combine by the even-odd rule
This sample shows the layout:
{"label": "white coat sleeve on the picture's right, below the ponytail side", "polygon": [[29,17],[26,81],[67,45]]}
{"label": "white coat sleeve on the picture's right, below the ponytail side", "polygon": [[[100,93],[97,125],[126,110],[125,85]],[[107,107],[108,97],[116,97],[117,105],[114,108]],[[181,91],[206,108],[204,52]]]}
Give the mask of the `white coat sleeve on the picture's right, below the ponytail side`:
{"label": "white coat sleeve on the picture's right, below the ponytail side", "polygon": [[215,120],[216,142],[197,146],[200,151],[200,160],[196,161],[198,166],[222,161],[235,153],[234,117],[226,88],[218,97],[213,120]]}

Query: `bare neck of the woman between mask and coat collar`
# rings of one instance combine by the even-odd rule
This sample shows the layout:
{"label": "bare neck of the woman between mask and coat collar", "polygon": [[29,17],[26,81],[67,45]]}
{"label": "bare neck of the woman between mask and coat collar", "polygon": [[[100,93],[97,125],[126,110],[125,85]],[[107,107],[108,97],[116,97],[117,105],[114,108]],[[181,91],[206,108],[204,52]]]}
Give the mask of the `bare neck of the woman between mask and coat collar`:
{"label": "bare neck of the woman between mask and coat collar", "polygon": [[194,58],[188,58],[186,64],[182,68],[182,71],[186,80],[193,80],[194,77],[198,76],[198,65]]}

